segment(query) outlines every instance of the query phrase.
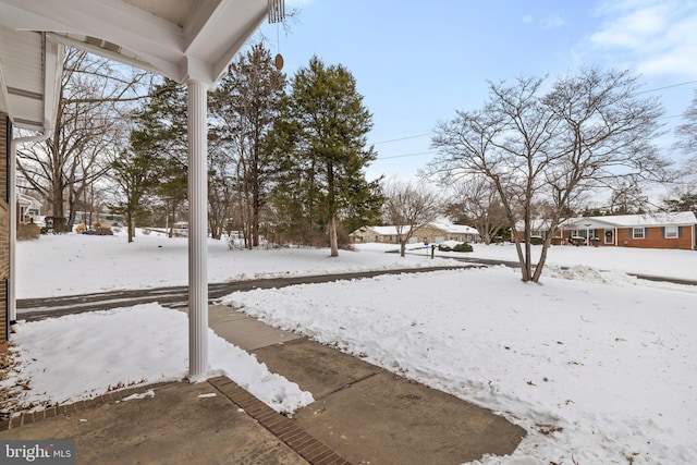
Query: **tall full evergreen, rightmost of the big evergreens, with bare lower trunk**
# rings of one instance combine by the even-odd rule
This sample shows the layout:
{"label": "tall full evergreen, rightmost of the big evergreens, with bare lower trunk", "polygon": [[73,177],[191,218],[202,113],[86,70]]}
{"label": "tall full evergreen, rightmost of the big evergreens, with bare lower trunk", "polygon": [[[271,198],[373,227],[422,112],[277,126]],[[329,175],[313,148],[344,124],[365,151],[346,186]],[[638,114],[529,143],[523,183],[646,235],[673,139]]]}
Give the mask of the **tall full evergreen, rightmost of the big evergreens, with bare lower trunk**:
{"label": "tall full evergreen, rightmost of the big evergreens, with bare lower trunk", "polygon": [[327,228],[332,257],[339,255],[338,221],[355,225],[379,217],[380,180],[368,182],[363,171],[376,158],[366,148],[371,120],[353,75],[314,57],[293,76],[270,142],[280,173],[277,207],[295,233]]}

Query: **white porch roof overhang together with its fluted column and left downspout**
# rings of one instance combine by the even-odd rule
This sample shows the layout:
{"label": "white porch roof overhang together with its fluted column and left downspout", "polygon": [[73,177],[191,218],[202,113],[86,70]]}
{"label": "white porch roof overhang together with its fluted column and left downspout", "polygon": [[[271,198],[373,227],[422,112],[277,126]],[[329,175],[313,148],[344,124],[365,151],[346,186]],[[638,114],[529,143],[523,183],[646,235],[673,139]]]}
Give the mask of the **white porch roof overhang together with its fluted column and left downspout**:
{"label": "white porch roof overhang together with its fluted column and left downspout", "polygon": [[[54,129],[62,49],[72,45],[188,87],[189,378],[208,369],[206,93],[264,19],[283,0],[0,0],[0,111],[14,126]],[[8,179],[14,185],[12,142]],[[10,204],[15,201],[11,189]],[[14,208],[10,209],[9,320],[15,317]]]}

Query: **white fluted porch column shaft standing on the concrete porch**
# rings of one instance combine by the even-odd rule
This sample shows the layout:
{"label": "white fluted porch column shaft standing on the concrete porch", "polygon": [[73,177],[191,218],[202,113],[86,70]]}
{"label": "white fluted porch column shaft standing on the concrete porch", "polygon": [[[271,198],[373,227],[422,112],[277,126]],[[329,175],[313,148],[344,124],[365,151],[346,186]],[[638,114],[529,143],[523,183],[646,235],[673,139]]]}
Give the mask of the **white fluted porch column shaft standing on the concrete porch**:
{"label": "white fluted porch column shaft standing on the concrete porch", "polygon": [[188,81],[188,378],[208,374],[207,89]]}

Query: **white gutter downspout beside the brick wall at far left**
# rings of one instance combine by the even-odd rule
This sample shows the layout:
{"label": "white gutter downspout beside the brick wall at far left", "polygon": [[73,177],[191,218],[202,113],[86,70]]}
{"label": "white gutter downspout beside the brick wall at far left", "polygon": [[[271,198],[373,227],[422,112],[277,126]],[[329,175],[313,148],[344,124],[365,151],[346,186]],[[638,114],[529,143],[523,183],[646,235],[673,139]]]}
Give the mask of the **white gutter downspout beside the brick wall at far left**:
{"label": "white gutter downspout beside the brick wall at far left", "polygon": [[17,242],[17,186],[16,161],[17,144],[44,142],[53,135],[53,130],[44,134],[28,137],[12,136],[10,143],[10,160],[8,160],[8,184],[10,185],[10,285],[8,286],[8,309],[10,314],[10,332],[17,332],[17,302],[16,302],[16,242]]}

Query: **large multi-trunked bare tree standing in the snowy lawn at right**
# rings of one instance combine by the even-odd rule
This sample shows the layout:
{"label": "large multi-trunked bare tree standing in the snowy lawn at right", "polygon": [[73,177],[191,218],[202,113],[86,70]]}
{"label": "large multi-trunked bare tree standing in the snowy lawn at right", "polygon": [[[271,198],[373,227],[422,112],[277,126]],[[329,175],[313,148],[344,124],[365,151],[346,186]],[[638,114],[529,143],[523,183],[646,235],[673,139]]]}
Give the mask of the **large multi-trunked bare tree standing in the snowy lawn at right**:
{"label": "large multi-trunked bare tree standing in the snowy lawn at right", "polygon": [[432,139],[439,156],[428,171],[447,181],[482,175],[492,182],[512,228],[523,281],[534,282],[552,240],[549,234],[534,265],[536,203],[553,206],[547,220],[554,231],[582,192],[619,179],[659,179],[668,167],[653,145],[662,108],[656,99],[636,96],[636,77],[588,69],[558,78],[547,94],[542,83],[518,78],[513,85],[490,84],[482,110],[460,111],[439,123]]}

